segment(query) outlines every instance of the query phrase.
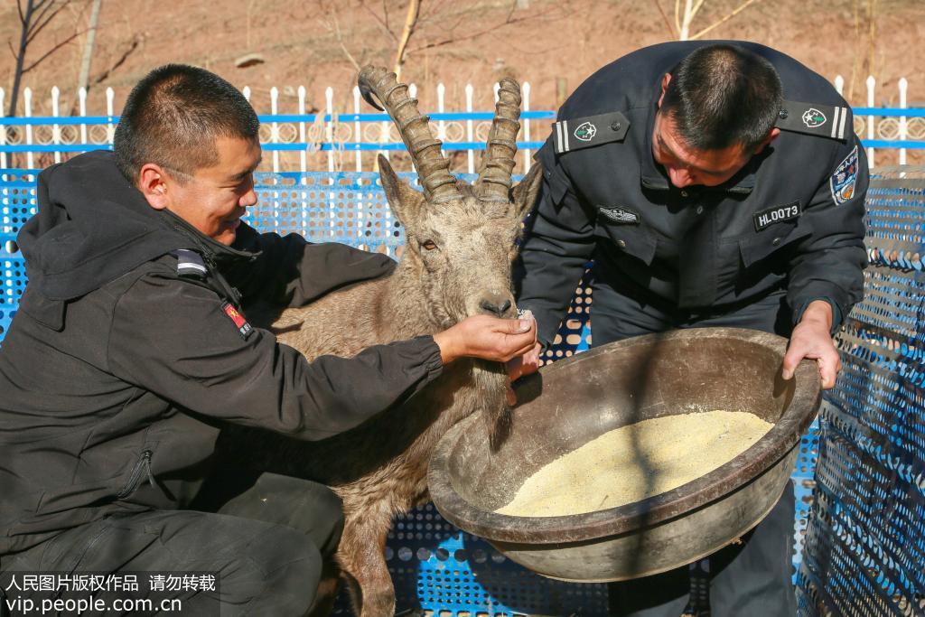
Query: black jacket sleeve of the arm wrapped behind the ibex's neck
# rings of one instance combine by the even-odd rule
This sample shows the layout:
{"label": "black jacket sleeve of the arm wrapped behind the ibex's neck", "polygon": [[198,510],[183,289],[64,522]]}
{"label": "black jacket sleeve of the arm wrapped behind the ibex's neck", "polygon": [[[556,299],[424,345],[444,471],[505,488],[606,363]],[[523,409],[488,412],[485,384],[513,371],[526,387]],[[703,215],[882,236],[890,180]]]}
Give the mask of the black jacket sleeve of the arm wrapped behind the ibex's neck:
{"label": "black jacket sleeve of the arm wrapped behind the ibex's neck", "polygon": [[228,282],[243,302],[260,300],[276,306],[303,306],[331,291],[388,275],[395,262],[346,244],[313,244],[298,234],[281,237],[241,225],[233,248],[260,252],[250,263],[228,269]]}

